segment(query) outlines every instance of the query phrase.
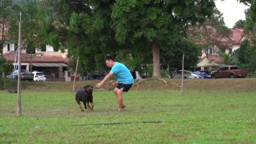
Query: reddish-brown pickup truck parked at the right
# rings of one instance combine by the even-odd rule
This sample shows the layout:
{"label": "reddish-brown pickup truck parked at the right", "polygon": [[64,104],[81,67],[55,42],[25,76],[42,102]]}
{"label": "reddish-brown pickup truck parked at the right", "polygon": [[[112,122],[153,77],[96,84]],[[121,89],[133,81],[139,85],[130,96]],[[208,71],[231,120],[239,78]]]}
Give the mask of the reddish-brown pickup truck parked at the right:
{"label": "reddish-brown pickup truck parked at the right", "polygon": [[236,78],[246,77],[249,75],[249,69],[239,69],[237,66],[224,66],[216,71],[211,72],[211,78]]}

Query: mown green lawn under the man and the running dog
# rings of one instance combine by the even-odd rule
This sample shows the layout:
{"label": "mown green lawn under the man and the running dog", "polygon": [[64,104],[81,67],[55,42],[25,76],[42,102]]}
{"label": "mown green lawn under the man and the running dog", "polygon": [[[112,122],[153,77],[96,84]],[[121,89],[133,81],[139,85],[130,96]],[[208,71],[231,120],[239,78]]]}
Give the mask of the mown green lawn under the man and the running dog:
{"label": "mown green lawn under the man and the running dog", "polygon": [[[81,112],[70,92],[0,91],[0,143],[255,143],[255,92],[129,91],[117,112],[112,91]],[[115,122],[162,121],[87,125]]]}

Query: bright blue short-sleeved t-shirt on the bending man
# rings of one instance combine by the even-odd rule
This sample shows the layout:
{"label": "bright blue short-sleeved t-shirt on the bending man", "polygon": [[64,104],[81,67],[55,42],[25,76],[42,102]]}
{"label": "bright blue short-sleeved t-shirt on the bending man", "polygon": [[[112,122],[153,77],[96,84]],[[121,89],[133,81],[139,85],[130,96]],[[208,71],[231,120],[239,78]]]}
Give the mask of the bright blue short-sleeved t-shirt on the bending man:
{"label": "bright blue short-sleeved t-shirt on the bending man", "polygon": [[115,74],[115,78],[117,79],[118,83],[123,83],[126,85],[130,85],[134,83],[131,72],[127,67],[125,67],[124,64],[115,62],[110,72],[113,72]]}

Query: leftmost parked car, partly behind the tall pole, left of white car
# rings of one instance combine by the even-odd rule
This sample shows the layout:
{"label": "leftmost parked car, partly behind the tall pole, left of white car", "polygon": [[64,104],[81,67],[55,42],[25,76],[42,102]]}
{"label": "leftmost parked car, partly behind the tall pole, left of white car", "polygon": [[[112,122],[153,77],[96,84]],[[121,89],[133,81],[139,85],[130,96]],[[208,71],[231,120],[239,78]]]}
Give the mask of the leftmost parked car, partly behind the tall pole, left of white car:
{"label": "leftmost parked car, partly behind the tall pole, left of white car", "polygon": [[[18,79],[18,72],[19,70],[15,70],[14,72],[11,73],[11,75],[8,75],[8,79]],[[21,80],[33,80],[34,75],[27,71],[26,69],[21,69]]]}

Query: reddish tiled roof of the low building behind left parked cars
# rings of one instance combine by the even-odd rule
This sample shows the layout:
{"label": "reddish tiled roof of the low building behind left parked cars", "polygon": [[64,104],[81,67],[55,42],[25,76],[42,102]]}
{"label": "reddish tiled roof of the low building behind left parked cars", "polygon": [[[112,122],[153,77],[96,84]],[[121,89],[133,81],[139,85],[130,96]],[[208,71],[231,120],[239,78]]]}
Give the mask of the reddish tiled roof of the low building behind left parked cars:
{"label": "reddish tiled roof of the low building behind left parked cars", "polygon": [[[3,54],[5,59],[10,60],[14,62],[15,60],[15,51],[11,51],[10,53],[5,53]],[[29,53],[21,53],[21,62],[30,62],[30,54]],[[18,61],[18,53],[16,54],[16,61]],[[35,56],[33,54],[32,58],[33,62],[40,62],[40,63],[68,63],[69,59],[68,58],[56,58],[56,57],[40,57],[40,56]]]}

